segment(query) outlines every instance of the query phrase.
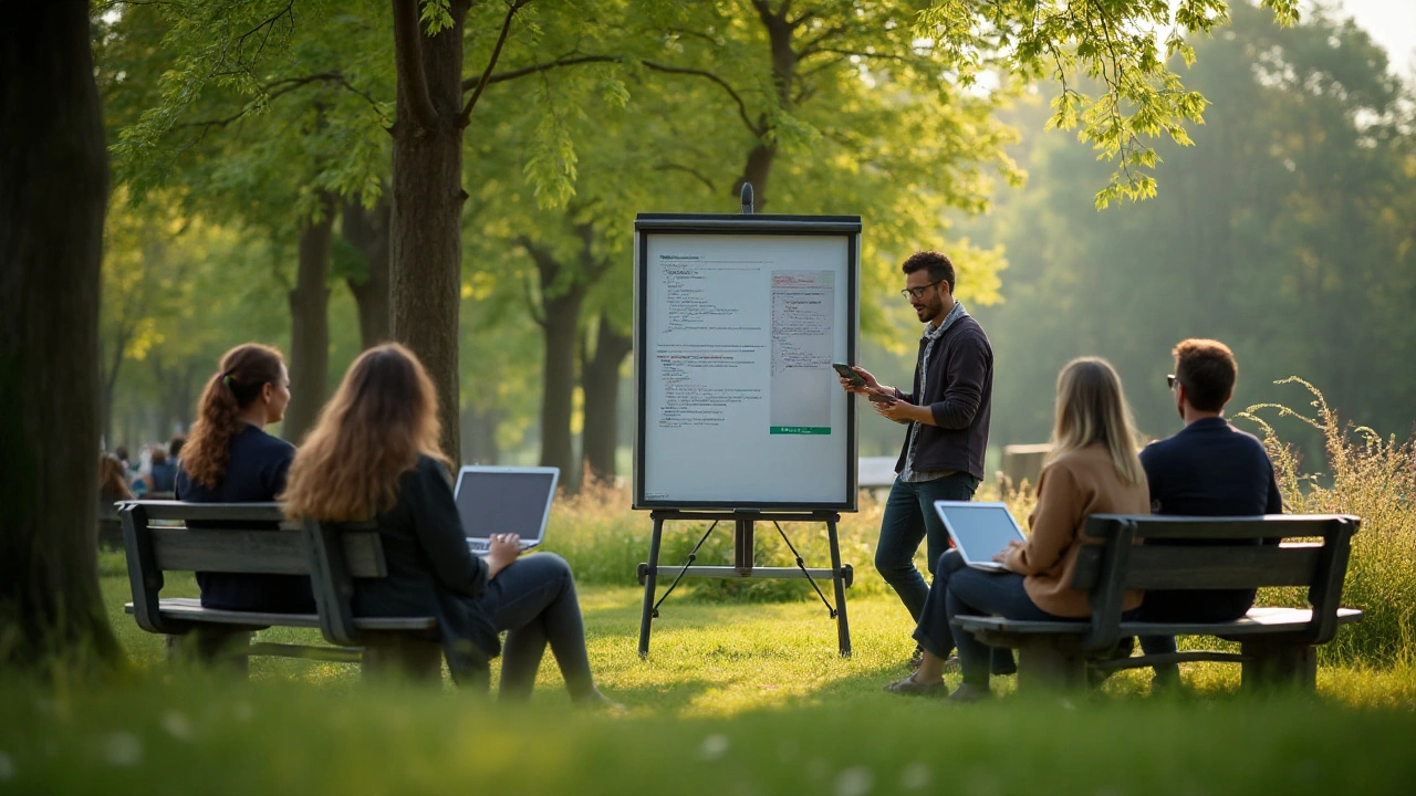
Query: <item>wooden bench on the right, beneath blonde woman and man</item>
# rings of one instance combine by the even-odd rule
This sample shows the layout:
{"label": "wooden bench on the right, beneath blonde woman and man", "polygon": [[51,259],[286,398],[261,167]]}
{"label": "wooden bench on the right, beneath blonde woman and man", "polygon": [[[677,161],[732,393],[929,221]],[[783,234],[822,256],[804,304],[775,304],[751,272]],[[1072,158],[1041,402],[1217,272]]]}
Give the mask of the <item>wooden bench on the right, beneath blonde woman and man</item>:
{"label": "wooden bench on the right, beneath blonde woman and man", "polygon": [[[1317,683],[1317,646],[1362,612],[1341,608],[1351,538],[1361,520],[1348,516],[1164,517],[1097,514],[1086,533],[1072,585],[1090,595],[1087,622],[1020,622],[957,616],[954,625],[990,646],[1018,650],[1018,687],[1075,688],[1086,667],[1136,669],[1160,663],[1243,664],[1246,690]],[[1134,540],[1321,540],[1249,545],[1151,545]],[[1252,589],[1307,586],[1310,608],[1253,608],[1233,622],[1126,622],[1126,589]],[[1238,653],[1194,650],[1107,659],[1130,636],[1216,636]]]}

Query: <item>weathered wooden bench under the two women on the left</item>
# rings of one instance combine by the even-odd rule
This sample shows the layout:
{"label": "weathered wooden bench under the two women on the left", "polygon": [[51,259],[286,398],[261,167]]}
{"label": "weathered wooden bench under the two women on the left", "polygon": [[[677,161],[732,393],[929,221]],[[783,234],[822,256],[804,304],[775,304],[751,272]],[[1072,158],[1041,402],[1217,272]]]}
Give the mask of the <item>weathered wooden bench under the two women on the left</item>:
{"label": "weathered wooden bench under the two women on the left", "polygon": [[[432,616],[354,616],[354,578],[388,576],[372,525],[295,523],[276,503],[140,500],[126,503],[119,517],[133,589],[125,608],[143,630],[167,636],[170,659],[219,663],[241,676],[251,656],[336,660],[361,663],[365,678],[440,683],[442,644]],[[208,527],[171,523],[193,520]],[[248,530],[251,523],[279,528]],[[317,612],[218,610],[195,598],[160,598],[163,574],[173,571],[309,575]],[[266,627],[319,627],[334,646],[252,643],[252,632]]]}

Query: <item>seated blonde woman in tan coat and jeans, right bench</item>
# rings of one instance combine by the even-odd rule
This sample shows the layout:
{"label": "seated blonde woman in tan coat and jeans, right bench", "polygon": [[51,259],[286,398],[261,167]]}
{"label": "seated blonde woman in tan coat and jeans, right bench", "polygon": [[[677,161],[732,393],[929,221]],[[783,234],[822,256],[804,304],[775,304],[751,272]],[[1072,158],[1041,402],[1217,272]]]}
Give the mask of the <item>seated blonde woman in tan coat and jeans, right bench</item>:
{"label": "seated blonde woman in tan coat and jeans, right bench", "polygon": [[[1038,503],[1028,517],[1028,541],[1011,542],[994,561],[1007,572],[974,569],[959,551],[939,562],[939,576],[919,618],[915,640],[923,661],[910,677],[886,686],[896,694],[943,695],[943,664],[959,649],[963,683],[952,700],[988,695],[988,647],[952,627],[960,615],[1020,620],[1076,620],[1092,616],[1082,589],[1072,588],[1078,552],[1092,514],[1148,514],[1146,472],[1136,456],[1136,431],[1121,380],[1106,360],[1072,360],[1058,375],[1052,452],[1038,477]],[[1129,591],[1123,609],[1141,603]]]}

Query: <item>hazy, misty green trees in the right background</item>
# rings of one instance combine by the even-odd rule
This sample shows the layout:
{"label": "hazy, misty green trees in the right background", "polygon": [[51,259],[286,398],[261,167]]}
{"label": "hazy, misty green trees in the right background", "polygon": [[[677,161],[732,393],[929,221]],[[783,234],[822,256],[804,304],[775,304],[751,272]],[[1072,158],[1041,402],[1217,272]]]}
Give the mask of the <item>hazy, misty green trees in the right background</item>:
{"label": "hazy, misty green trees in the right background", "polygon": [[997,357],[991,439],[1045,439],[1045,397],[1083,354],[1117,367],[1144,431],[1171,433],[1164,375],[1185,337],[1233,348],[1233,406],[1301,373],[1344,415],[1410,431],[1416,377],[1371,364],[1416,357],[1410,89],[1359,28],[1321,10],[1280,30],[1236,4],[1232,27],[1197,50],[1188,82],[1214,105],[1198,149],[1160,147],[1163,195],[1097,214],[1083,186],[1102,167],[1034,137],[1020,156],[1032,188],[961,222],[1011,263],[1008,302],[974,313]]}

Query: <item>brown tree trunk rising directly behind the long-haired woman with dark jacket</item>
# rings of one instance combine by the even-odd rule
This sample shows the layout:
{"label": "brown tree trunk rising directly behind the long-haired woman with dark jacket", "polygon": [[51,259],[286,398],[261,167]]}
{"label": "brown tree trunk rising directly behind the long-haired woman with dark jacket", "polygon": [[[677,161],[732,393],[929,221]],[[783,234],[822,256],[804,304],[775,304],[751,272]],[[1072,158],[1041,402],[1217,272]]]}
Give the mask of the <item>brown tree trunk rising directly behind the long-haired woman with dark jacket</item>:
{"label": "brown tree trunk rising directly behind the long-haired woman with dark jacket", "polygon": [[389,331],[438,388],[442,448],[459,462],[457,310],[462,288],[462,47],[467,0],[429,37],[413,0],[394,0],[398,106],[394,116]]}

